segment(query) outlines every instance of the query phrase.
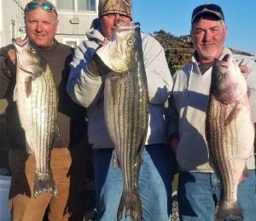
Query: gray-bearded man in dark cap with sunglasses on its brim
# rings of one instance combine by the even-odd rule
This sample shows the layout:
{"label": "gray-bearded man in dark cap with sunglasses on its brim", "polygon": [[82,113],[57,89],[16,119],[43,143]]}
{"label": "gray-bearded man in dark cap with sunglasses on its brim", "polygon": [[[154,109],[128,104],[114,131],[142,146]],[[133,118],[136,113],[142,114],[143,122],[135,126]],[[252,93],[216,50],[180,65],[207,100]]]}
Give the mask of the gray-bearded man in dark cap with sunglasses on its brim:
{"label": "gray-bearded man in dark cap with sunglasses on its brim", "polygon": [[[214,220],[220,200],[220,181],[209,164],[205,124],[214,59],[230,54],[240,65],[250,90],[253,122],[256,122],[256,64],[224,47],[227,27],[222,8],[206,3],[192,13],[191,37],[195,53],[188,65],[173,76],[169,105],[169,141],[179,167],[178,212],[180,220]],[[237,201],[242,220],[256,220],[253,147],[247,159],[248,178],[238,185]],[[224,220],[235,220],[225,218]],[[236,219],[237,220],[237,219]],[[239,219],[241,220],[241,219]]]}

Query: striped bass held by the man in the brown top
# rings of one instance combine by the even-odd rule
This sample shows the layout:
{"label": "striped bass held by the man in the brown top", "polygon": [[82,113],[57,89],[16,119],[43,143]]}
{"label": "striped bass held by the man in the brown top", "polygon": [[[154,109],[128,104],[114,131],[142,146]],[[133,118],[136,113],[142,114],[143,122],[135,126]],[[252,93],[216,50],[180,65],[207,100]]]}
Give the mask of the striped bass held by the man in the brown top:
{"label": "striped bass held by the man in the brown top", "polygon": [[47,61],[31,40],[17,38],[13,44],[17,58],[14,100],[26,135],[26,150],[36,158],[33,195],[56,195],[50,168],[51,150],[59,134],[55,81]]}

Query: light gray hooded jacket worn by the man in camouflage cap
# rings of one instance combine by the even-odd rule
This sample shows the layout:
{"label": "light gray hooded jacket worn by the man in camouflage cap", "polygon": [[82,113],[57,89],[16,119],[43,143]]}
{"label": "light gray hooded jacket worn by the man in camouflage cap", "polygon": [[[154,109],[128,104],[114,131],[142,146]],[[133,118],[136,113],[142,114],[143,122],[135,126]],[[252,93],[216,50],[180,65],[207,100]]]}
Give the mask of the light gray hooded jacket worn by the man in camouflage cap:
{"label": "light gray hooded jacket worn by the man in camouflage cap", "polygon": [[[90,61],[104,37],[101,29],[96,28],[92,28],[86,36],[89,40],[81,42],[75,50],[67,92],[76,103],[87,107],[88,136],[93,148],[113,148],[103,114],[104,77],[96,77],[86,68],[86,63]],[[154,37],[143,33],[142,39],[150,102],[146,144],[166,144],[165,102],[171,94],[172,76],[160,43]]]}

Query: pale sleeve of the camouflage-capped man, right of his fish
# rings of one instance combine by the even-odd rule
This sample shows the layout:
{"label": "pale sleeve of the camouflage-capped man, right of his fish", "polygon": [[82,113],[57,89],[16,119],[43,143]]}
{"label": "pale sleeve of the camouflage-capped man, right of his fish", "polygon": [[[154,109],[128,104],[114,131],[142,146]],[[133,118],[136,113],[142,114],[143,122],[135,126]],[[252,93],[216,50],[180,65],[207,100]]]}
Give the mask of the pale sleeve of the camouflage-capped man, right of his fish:
{"label": "pale sleeve of the camouflage-capped man, right of his fish", "polygon": [[153,105],[163,105],[172,90],[172,75],[166,62],[165,51],[154,37],[144,34],[142,37],[149,101]]}

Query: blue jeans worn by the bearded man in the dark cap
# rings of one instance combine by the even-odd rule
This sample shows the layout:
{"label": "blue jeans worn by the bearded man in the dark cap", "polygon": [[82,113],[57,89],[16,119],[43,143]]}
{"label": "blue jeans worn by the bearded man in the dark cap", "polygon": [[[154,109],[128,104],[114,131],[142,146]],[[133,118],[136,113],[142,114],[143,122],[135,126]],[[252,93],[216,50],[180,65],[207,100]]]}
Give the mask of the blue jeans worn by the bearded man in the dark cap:
{"label": "blue jeans worn by the bearded man in the dark cap", "polygon": [[[178,178],[178,212],[181,221],[213,221],[220,199],[220,182],[214,173],[180,172]],[[238,185],[237,201],[244,221],[256,220],[255,173]],[[237,220],[225,218],[227,220]]]}

